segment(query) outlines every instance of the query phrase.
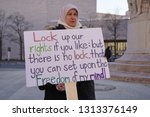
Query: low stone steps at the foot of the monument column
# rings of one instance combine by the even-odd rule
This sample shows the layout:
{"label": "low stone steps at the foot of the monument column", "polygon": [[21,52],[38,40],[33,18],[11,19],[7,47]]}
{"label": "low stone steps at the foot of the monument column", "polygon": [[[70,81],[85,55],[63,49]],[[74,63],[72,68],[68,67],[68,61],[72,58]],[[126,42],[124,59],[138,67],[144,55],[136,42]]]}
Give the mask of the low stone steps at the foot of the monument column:
{"label": "low stone steps at the foot of the monument column", "polygon": [[150,64],[109,63],[111,80],[150,84]]}

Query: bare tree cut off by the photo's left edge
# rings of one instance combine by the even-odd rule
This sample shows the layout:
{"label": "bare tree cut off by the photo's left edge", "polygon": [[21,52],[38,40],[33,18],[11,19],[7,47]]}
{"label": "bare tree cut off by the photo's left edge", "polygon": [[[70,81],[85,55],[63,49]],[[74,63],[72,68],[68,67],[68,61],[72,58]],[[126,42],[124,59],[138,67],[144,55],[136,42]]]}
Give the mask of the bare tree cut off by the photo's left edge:
{"label": "bare tree cut off by the photo's left edge", "polygon": [[5,29],[7,27],[7,20],[4,10],[0,10],[0,60],[2,60],[2,51],[3,51],[3,39],[5,36]]}

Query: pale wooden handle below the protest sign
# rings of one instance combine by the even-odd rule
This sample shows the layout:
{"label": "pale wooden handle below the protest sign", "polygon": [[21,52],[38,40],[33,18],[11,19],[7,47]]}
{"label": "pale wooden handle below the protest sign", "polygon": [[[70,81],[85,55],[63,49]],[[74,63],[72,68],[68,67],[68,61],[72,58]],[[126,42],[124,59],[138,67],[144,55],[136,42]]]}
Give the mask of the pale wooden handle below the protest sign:
{"label": "pale wooden handle below the protest sign", "polygon": [[65,83],[67,100],[78,100],[76,82]]}

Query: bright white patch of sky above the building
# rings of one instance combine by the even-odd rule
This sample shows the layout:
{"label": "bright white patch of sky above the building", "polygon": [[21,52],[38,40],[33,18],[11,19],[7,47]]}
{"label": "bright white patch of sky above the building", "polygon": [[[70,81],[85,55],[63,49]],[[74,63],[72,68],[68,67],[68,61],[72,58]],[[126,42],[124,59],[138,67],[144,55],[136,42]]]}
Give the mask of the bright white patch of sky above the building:
{"label": "bright white patch of sky above the building", "polygon": [[128,11],[127,0],[97,0],[98,13],[125,15]]}

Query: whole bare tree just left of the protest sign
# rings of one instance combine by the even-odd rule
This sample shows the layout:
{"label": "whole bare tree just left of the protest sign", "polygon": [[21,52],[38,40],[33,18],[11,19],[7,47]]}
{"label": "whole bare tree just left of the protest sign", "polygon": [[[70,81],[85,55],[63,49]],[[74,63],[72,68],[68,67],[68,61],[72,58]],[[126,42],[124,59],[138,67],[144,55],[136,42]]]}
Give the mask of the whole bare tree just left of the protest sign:
{"label": "whole bare tree just left of the protest sign", "polygon": [[24,38],[23,32],[29,30],[32,24],[25,20],[25,17],[20,13],[14,13],[8,17],[9,20],[9,38],[11,41],[19,44],[20,60],[24,57]]}

